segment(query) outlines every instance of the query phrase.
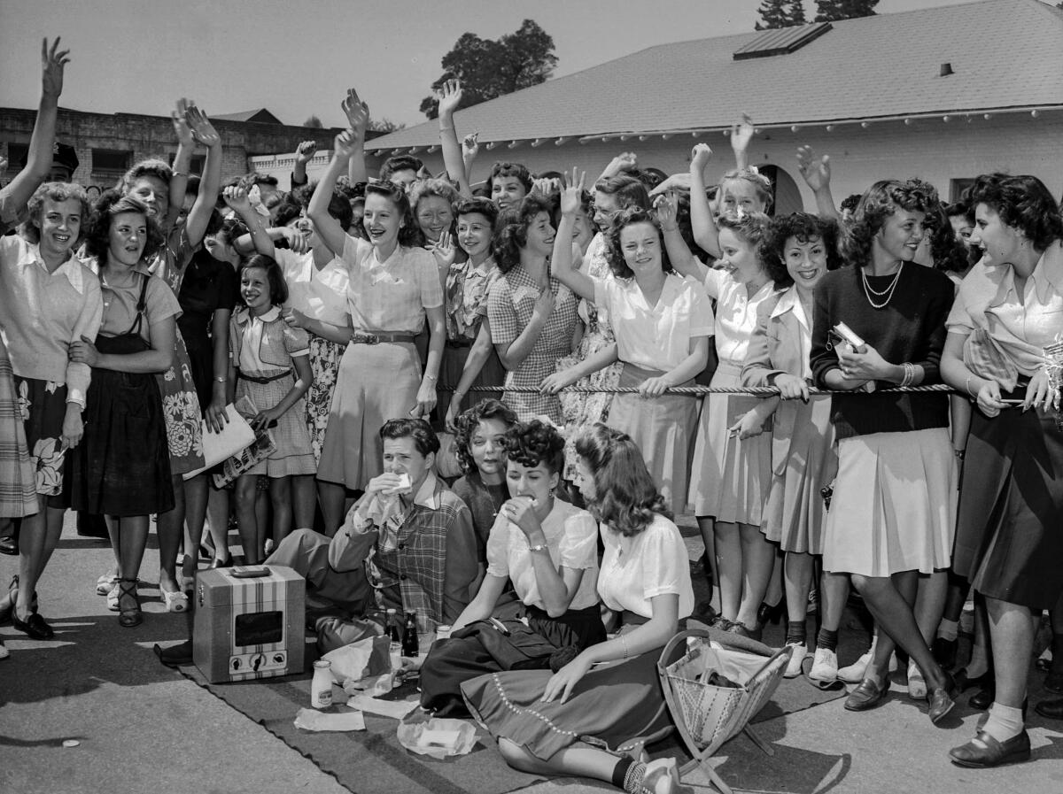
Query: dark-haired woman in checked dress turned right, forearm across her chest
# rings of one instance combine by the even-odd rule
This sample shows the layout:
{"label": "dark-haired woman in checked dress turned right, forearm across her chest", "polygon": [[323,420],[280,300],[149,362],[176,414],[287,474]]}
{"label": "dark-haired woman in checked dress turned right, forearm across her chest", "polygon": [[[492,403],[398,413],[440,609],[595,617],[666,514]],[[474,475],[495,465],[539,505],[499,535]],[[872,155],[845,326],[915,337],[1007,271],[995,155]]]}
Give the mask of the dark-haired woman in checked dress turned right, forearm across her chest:
{"label": "dark-haired woman in checked dress turned right, forearm across her chest", "polygon": [[[539,389],[557,360],[572,350],[576,298],[550,275],[554,237],[550,204],[537,195],[499,219],[495,261],[502,275],[488,295],[487,316],[507,387]],[[562,422],[556,395],[504,392],[502,401],[522,420],[545,415]]]}

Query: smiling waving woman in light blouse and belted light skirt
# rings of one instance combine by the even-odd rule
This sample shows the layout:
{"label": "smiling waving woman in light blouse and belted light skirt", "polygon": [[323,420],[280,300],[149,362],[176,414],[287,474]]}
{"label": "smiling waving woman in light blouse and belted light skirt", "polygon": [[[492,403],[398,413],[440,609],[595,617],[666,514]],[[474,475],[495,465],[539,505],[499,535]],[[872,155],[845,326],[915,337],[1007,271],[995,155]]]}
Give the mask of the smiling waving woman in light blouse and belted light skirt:
{"label": "smiling waving woman in light blouse and belted light skirt", "polygon": [[[368,241],[348,235],[328,213],[336,179],[364,134],[358,125],[336,136],[333,158],[307,207],[321,240],[347,263],[353,326],[318,466],[327,533],[343,521],[345,491],[364,488],[382,470],[383,443],[375,429],[392,418],[427,416],[436,407],[446,333],[439,271],[416,244],[420,232],[402,188],[366,187]],[[414,338],[426,323],[431,339],[422,369]]]}

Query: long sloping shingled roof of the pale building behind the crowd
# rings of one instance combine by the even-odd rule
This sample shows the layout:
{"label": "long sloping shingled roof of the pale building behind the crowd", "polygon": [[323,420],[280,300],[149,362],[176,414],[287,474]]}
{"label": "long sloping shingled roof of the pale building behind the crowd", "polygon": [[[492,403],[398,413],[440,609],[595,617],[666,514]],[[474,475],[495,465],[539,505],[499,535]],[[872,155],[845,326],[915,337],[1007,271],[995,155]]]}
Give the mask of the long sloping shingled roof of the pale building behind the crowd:
{"label": "long sloping shingled roof of the pale building behind the crowd", "polygon": [[[796,52],[736,61],[759,32],[651,47],[455,115],[480,142],[1063,106],[1063,12],[981,0],[833,22]],[[952,74],[941,76],[942,64]],[[368,149],[438,143],[429,121]]]}

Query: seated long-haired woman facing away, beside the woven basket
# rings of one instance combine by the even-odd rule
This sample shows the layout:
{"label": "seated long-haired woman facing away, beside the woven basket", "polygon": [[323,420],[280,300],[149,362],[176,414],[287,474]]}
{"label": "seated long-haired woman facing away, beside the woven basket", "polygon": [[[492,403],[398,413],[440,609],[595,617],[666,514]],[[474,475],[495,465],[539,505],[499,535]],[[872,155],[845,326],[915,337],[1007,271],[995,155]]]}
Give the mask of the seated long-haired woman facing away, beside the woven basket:
{"label": "seated long-haired woman facing away, beside the woven basket", "polygon": [[[576,451],[579,488],[605,542],[597,590],[622,615],[620,634],[553,674],[482,675],[461,691],[513,769],[665,794],[678,784],[675,759],[644,763],[641,747],[672,730],[657,660],[694,606],[687,549],[629,436],[598,424]],[[592,669],[600,662],[608,663]]]}

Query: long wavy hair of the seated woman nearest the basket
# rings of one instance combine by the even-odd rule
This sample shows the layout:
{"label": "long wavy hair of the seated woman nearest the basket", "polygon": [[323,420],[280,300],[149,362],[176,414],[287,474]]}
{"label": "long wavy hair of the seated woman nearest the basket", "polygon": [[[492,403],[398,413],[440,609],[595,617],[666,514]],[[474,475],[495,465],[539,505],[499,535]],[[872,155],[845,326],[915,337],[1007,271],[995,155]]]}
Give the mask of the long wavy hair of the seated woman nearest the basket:
{"label": "long wavy hair of the seated woman nearest the basket", "polygon": [[655,515],[672,518],[646,469],[642,450],[627,433],[595,422],[576,438],[576,454],[593,472],[596,497],[588,510],[622,535],[637,535]]}

